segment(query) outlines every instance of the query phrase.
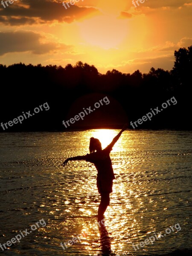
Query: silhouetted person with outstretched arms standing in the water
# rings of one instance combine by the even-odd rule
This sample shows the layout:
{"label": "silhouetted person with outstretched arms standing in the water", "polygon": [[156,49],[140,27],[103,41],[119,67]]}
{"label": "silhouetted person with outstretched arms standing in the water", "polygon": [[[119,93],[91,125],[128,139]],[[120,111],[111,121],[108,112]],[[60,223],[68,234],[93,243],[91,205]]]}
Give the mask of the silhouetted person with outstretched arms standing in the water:
{"label": "silhouetted person with outstretched arms standing in the water", "polygon": [[[94,163],[97,169],[97,188],[99,194],[101,194],[101,203],[99,204],[98,209],[98,221],[101,221],[104,218],[104,213],[110,202],[110,193],[113,192],[113,180],[115,179],[113,173],[113,167],[110,158],[110,152],[117,142],[122,132],[125,131],[127,126],[124,126],[122,130],[117,134],[112,142],[102,150],[102,145],[98,139],[90,138],[89,151],[90,154],[85,156],[70,157],[64,161],[63,166],[67,165],[67,162],[74,160],[85,160],[90,163]],[[96,152],[95,152],[96,151]]]}

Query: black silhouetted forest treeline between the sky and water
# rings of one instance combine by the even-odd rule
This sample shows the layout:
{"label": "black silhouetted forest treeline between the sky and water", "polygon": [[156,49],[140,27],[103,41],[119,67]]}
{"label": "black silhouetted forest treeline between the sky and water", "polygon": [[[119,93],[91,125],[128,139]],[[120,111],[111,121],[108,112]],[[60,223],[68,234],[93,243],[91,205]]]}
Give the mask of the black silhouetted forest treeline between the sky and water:
{"label": "black silhouetted forest treeline between the sky and water", "polygon": [[[121,122],[126,121],[125,116],[129,121],[135,121],[174,96],[177,105],[169,106],[138,128],[191,130],[192,46],[180,48],[174,55],[172,70],[151,67],[149,73],[143,74],[139,70],[130,74],[115,69],[101,74],[93,65],[81,61],[66,67],[22,63],[6,67],[0,64],[0,122],[13,120],[23,111],[33,111],[48,102],[49,111],[41,111],[6,131],[120,128]],[[103,96],[111,99],[109,105],[100,107],[92,117],[90,114],[86,120],[76,122],[68,129],[64,127],[62,120],[74,117],[72,114],[78,114],[82,107],[89,107],[90,102],[94,105],[94,100]]]}

